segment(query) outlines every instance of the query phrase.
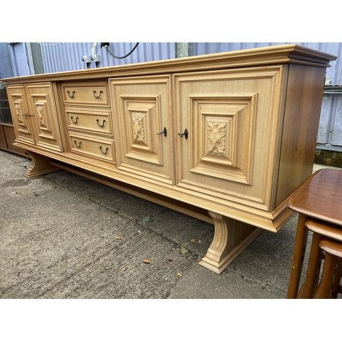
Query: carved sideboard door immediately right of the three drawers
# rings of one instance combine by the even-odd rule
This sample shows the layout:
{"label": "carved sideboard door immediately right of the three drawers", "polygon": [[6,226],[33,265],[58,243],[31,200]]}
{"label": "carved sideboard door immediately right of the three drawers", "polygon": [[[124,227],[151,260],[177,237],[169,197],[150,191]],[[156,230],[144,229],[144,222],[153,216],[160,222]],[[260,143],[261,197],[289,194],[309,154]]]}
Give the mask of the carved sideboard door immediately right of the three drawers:
{"label": "carved sideboard door immediately right of the three drawers", "polygon": [[109,79],[118,169],[172,184],[170,75]]}

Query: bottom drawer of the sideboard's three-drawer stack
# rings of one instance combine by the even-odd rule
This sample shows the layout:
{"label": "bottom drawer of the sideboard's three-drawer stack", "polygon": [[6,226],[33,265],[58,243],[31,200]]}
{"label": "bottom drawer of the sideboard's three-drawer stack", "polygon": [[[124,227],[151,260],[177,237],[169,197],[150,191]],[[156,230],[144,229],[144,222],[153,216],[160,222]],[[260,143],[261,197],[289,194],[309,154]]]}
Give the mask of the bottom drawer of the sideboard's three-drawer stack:
{"label": "bottom drawer of the sideboard's three-drawer stack", "polygon": [[90,159],[116,163],[114,140],[112,139],[69,132],[69,143],[71,153]]}

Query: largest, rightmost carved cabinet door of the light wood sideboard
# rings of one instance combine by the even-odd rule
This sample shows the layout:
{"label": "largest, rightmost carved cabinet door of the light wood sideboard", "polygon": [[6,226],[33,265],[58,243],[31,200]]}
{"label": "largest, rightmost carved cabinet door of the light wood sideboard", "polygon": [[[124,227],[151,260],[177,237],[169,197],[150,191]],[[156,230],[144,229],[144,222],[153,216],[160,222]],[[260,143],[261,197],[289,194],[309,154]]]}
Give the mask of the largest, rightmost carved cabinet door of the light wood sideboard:
{"label": "largest, rightmost carved cabinet door of the light wood sideboard", "polygon": [[[176,184],[272,211],[286,68],[175,75]],[[222,202],[223,203],[223,202]]]}

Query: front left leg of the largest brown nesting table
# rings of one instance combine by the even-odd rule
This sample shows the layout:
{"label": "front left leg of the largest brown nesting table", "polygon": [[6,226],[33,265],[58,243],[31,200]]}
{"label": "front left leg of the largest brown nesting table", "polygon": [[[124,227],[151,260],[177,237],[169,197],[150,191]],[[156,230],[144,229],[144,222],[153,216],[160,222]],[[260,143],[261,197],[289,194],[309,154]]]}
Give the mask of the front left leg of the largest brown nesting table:
{"label": "front left leg of the largest brown nesting table", "polygon": [[308,217],[306,215],[299,214],[298,216],[297,232],[295,233],[295,244],[293,248],[293,257],[289,276],[289,286],[287,287],[288,299],[297,298],[298,294],[306,242],[308,241],[308,229],[305,226],[307,219]]}

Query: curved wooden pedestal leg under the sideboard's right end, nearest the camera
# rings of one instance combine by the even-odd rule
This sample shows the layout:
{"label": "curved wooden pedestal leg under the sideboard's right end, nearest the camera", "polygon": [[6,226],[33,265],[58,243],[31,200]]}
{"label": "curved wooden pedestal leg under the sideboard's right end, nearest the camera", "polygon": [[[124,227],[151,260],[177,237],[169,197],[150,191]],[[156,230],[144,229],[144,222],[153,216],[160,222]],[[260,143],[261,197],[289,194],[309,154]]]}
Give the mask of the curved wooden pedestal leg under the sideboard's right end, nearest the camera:
{"label": "curved wooden pedestal leg under the sideboard's right end, nearest the camera", "polygon": [[214,220],[215,232],[200,265],[221,274],[263,230],[211,211],[209,214]]}

